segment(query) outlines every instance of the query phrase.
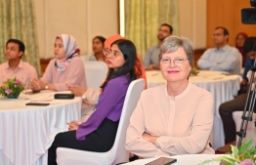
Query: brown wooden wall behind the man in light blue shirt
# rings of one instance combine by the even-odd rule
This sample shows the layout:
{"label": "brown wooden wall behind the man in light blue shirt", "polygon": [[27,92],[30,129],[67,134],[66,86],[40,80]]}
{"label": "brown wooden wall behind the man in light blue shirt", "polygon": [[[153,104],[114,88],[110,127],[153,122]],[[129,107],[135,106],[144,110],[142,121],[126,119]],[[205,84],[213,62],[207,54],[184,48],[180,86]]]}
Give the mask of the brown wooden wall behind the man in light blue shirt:
{"label": "brown wooden wall behind the man in light blue shirt", "polygon": [[230,32],[231,46],[235,46],[235,36],[238,32],[246,32],[256,36],[256,24],[242,24],[240,11],[251,8],[250,0],[207,0],[207,48],[214,47],[213,30],[222,25]]}

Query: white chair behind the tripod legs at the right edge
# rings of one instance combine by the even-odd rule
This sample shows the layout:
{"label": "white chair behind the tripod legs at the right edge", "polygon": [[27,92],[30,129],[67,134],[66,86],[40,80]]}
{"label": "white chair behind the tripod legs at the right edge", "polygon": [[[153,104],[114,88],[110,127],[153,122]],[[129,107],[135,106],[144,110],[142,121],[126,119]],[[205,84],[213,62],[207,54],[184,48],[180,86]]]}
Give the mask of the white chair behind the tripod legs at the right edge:
{"label": "white chair behind the tripod legs at the right edge", "polygon": [[[233,118],[235,120],[236,132],[240,131],[241,116],[242,116],[242,111],[235,111],[235,112],[233,112]],[[254,145],[256,145],[256,136],[255,136],[256,135],[256,127],[254,125],[255,121],[256,121],[256,113],[253,113],[252,121],[248,122],[247,130],[246,130],[246,135],[242,139],[242,142],[244,142],[246,140],[251,140],[252,139],[254,141]],[[238,144],[238,141],[239,141],[239,137],[236,136],[236,145]]]}

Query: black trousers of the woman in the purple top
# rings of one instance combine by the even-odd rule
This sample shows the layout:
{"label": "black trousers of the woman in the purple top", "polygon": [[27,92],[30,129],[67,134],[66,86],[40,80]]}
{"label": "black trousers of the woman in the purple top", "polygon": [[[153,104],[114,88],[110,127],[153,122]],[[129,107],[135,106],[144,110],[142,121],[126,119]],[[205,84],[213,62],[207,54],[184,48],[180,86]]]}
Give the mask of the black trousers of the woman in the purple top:
{"label": "black trousers of the woman in the purple top", "polygon": [[119,121],[113,122],[109,119],[105,119],[96,131],[86,136],[84,141],[76,140],[76,131],[68,131],[58,134],[55,137],[54,143],[48,149],[48,165],[57,165],[57,147],[106,152],[114,143],[118,123]]}

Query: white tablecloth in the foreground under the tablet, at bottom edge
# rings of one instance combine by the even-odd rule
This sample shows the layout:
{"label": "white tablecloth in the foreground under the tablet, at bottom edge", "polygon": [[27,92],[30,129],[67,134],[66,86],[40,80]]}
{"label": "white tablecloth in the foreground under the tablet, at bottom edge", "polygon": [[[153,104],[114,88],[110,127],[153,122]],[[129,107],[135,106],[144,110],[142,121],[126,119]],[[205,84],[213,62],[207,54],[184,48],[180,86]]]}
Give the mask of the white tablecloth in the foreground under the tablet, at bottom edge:
{"label": "white tablecloth in the foreground under the tablet, at bottom edge", "polygon": [[[173,165],[197,165],[204,160],[211,160],[214,157],[221,156],[220,154],[184,154],[184,155],[176,155],[176,156],[169,156],[170,158],[177,159],[176,163]],[[140,159],[135,160],[130,163],[126,163],[125,165],[142,165],[149,163],[150,161],[155,160],[156,158],[149,158],[149,159]],[[220,162],[212,162],[209,163],[210,165],[219,165]]]}

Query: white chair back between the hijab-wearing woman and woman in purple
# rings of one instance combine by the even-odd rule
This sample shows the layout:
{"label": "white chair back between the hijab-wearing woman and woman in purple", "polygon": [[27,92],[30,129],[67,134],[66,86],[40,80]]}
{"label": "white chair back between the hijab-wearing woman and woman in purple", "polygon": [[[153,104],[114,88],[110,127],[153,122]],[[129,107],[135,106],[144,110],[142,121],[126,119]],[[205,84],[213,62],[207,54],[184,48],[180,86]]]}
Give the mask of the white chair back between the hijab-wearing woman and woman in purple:
{"label": "white chair back between the hijab-wearing woman and woman in purple", "polygon": [[107,77],[106,62],[83,61],[88,88],[98,90]]}

